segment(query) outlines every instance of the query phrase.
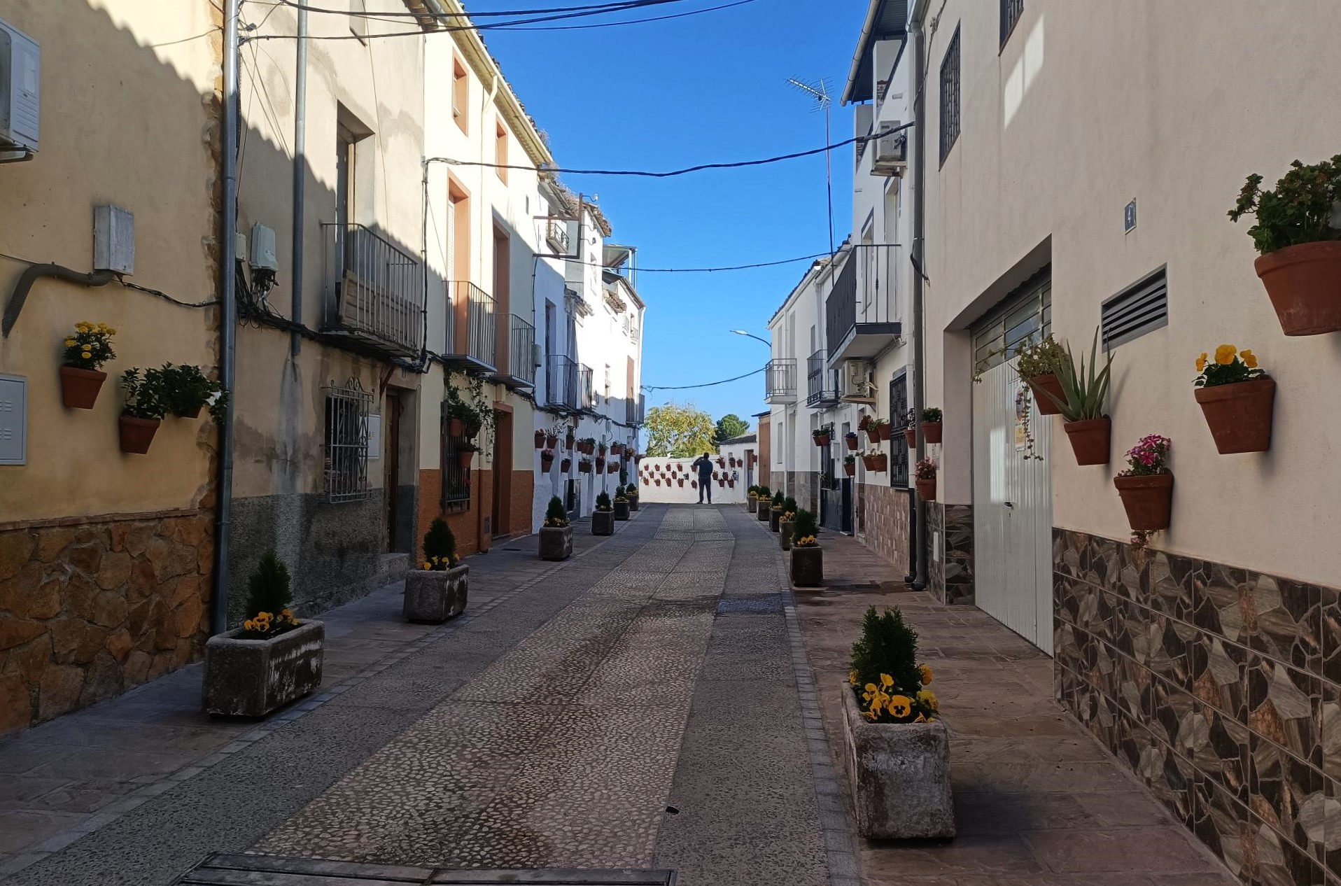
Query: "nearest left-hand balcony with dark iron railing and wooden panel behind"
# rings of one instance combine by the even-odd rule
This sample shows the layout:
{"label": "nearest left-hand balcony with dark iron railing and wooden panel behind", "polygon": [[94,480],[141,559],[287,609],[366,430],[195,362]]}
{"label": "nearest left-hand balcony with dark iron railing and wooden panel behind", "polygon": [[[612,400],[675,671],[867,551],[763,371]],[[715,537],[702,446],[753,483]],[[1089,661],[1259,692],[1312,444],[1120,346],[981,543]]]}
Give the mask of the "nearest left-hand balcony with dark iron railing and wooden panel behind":
{"label": "nearest left-hand balcony with dark iron railing and wooden panel behind", "polygon": [[323,224],[322,235],[322,331],[384,357],[417,358],[424,347],[418,263],[363,225]]}

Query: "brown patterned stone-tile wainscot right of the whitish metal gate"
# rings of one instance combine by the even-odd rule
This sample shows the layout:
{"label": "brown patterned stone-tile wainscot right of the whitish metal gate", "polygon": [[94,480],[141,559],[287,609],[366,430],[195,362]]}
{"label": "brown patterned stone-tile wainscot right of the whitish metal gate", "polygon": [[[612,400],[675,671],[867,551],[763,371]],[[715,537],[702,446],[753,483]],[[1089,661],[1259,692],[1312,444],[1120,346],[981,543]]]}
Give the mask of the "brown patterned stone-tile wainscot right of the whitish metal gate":
{"label": "brown patterned stone-tile wainscot right of the whitish metal gate", "polygon": [[1341,591],[1054,529],[1061,702],[1246,883],[1341,883]]}

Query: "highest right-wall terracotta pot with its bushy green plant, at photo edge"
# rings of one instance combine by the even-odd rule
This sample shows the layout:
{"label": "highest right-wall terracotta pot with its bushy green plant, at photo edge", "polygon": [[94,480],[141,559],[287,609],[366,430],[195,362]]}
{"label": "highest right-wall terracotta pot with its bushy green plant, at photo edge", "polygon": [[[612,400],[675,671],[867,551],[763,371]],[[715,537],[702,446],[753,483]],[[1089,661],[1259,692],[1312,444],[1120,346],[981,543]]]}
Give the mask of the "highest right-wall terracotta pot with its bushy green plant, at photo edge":
{"label": "highest right-wall terracotta pot with its bushy green plant, at photo edge", "polygon": [[1255,263],[1286,335],[1341,330],[1341,154],[1305,166],[1299,161],[1262,190],[1248,176],[1230,218],[1252,213],[1248,236]]}

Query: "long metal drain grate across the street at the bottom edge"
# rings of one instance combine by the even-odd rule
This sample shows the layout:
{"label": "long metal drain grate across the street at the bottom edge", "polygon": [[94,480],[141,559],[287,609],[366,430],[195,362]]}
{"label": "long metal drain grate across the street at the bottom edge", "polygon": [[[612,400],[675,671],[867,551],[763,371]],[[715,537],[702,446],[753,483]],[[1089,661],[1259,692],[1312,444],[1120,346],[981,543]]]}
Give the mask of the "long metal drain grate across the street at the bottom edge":
{"label": "long metal drain grate across the street at the bottom edge", "polygon": [[215,852],[190,869],[184,886],[469,886],[483,883],[550,883],[551,886],[675,886],[665,870],[447,870],[406,865],[354,865],[282,855]]}

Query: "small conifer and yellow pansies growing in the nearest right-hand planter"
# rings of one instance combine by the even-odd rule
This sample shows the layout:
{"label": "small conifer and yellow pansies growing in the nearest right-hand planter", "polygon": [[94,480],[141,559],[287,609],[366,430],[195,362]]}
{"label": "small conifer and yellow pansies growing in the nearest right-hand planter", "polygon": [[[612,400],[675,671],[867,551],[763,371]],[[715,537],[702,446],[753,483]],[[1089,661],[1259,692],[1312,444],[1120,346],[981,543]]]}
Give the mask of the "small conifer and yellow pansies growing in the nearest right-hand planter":
{"label": "small conifer and yellow pansies growing in the nearest right-hand planter", "polygon": [[917,631],[904,623],[902,611],[868,609],[848,672],[862,717],[870,722],[931,722],[940,710],[936,693],[925,688],[932,676],[931,668],[917,662]]}

